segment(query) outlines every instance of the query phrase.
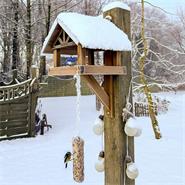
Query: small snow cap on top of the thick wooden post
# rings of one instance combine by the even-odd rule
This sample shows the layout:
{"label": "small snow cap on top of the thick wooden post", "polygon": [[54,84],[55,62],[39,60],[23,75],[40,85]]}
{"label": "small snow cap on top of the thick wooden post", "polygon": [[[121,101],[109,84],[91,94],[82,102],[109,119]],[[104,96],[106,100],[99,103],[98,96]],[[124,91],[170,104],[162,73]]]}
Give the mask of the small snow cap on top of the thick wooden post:
{"label": "small snow cap on top of the thick wooden post", "polygon": [[111,2],[111,3],[108,3],[107,5],[105,5],[103,7],[103,12],[106,12],[106,11],[111,10],[113,8],[121,8],[121,9],[130,11],[130,7],[127,4],[120,2],[120,1],[114,1],[114,2]]}

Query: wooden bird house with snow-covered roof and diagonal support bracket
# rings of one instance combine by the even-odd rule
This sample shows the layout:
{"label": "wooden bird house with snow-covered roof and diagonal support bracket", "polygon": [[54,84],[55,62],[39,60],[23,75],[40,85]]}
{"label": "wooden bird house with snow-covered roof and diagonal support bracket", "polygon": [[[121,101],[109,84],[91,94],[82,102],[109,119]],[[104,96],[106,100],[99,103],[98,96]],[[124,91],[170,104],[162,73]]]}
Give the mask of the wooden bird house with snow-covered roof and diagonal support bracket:
{"label": "wooden bird house with snow-covered roof and diagonal support bracket", "polygon": [[[49,75],[81,75],[107,110],[112,112],[113,76],[126,75],[127,69],[121,65],[120,55],[121,51],[130,50],[127,35],[109,20],[61,13],[45,39],[42,53],[53,54],[54,67]],[[103,51],[103,65],[95,65],[96,51]],[[61,66],[61,55],[76,55],[76,65]],[[99,85],[94,75],[105,75],[104,87]]]}

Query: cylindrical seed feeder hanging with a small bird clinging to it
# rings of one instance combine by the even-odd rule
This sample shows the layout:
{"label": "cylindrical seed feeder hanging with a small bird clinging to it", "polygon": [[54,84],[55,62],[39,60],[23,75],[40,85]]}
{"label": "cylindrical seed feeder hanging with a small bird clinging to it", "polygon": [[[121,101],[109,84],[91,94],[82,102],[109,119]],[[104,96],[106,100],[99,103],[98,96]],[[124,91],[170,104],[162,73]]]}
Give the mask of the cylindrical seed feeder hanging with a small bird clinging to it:
{"label": "cylindrical seed feeder hanging with a small bird clinging to it", "polygon": [[84,141],[79,136],[73,139],[73,179],[84,181]]}

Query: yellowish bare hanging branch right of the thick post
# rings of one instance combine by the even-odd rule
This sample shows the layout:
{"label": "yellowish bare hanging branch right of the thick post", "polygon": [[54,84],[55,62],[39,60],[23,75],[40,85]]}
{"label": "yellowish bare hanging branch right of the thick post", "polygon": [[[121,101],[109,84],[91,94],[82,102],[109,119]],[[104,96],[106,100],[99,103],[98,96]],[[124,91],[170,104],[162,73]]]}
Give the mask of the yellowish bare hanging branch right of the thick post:
{"label": "yellowish bare hanging branch right of the thick post", "polygon": [[140,80],[141,80],[141,83],[143,84],[143,90],[144,90],[144,93],[145,93],[147,100],[148,100],[149,115],[151,118],[155,138],[160,139],[162,136],[161,136],[158,121],[157,121],[157,118],[156,118],[156,115],[154,112],[154,103],[153,103],[152,95],[151,95],[150,89],[148,87],[148,84],[147,84],[147,81],[146,81],[145,75],[144,75],[144,65],[145,65],[145,60],[146,60],[147,53],[148,53],[148,46],[147,46],[147,41],[145,38],[144,0],[141,0],[141,2],[142,2],[141,38],[142,38],[143,44],[144,44],[144,51],[143,51],[143,54],[140,57],[140,61],[139,61],[140,71],[141,71]]}

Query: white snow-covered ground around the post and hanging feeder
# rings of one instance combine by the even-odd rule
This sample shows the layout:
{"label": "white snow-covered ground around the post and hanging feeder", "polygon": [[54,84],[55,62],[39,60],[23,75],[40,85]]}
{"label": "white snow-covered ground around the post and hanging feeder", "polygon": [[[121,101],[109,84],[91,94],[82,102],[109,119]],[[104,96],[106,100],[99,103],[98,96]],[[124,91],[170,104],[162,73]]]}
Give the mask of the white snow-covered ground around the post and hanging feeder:
{"label": "white snow-covered ground around the post and hanging feeder", "polygon": [[[140,171],[136,185],[185,185],[185,93],[160,96],[171,101],[169,112],[159,116],[163,138],[154,139],[148,118],[138,119],[138,124],[143,125],[143,135],[135,142]],[[72,165],[65,169],[63,164],[63,156],[71,149],[76,133],[76,98],[42,99],[42,104],[53,129],[44,136],[0,143],[0,185],[76,184],[72,178]],[[101,137],[92,132],[97,115],[95,97],[82,97],[80,135],[85,140],[84,185],[103,185],[103,174],[94,169],[102,148]]]}

